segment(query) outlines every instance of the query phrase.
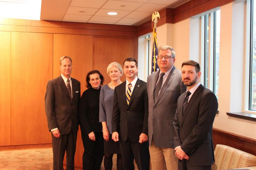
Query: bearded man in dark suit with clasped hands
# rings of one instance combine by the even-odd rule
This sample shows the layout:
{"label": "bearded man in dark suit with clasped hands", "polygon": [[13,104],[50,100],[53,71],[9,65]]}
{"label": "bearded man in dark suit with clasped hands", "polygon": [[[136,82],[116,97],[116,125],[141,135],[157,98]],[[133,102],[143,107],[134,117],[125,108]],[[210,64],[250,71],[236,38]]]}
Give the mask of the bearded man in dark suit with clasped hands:
{"label": "bearded man in dark suit with clasped hands", "polygon": [[201,85],[200,76],[199,63],[182,63],[181,78],[187,91],[178,99],[173,120],[179,170],[211,170],[214,162],[212,124],[218,101],[212,91]]}

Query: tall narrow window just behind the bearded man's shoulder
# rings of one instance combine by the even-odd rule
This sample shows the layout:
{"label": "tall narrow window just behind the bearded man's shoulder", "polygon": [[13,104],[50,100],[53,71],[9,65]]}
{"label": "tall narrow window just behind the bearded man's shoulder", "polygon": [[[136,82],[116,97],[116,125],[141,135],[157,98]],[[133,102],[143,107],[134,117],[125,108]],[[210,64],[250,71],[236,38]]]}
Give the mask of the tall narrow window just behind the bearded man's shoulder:
{"label": "tall narrow window just behind the bearded man's shoulder", "polygon": [[202,33],[202,83],[219,94],[219,59],[220,59],[220,10],[201,17]]}

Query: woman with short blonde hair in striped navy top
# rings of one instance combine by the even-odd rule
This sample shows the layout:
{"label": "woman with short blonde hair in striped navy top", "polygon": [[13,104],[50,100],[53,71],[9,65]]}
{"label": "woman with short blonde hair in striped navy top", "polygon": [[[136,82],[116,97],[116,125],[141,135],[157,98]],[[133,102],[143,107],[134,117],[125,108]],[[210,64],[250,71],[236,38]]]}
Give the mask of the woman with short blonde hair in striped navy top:
{"label": "woman with short blonde hair in striped navy top", "polygon": [[111,79],[108,85],[103,85],[100,90],[100,112],[99,122],[102,123],[102,131],[104,138],[104,167],[105,170],[111,170],[113,165],[113,154],[117,154],[116,168],[123,169],[122,157],[119,142],[112,140],[112,110],[114,102],[114,89],[122,82],[120,77],[123,75],[122,66],[113,62],[108,65],[107,73]]}

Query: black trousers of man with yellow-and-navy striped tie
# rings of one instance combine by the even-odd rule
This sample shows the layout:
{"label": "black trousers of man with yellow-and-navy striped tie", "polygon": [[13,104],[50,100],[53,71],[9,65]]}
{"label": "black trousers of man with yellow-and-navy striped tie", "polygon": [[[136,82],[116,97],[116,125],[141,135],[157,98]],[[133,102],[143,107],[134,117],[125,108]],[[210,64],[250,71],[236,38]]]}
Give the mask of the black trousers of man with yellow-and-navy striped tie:
{"label": "black trousers of man with yellow-and-navy striped tie", "polygon": [[134,158],[139,170],[149,170],[148,141],[140,144],[127,138],[125,142],[120,141],[120,150],[124,170],[134,170]]}

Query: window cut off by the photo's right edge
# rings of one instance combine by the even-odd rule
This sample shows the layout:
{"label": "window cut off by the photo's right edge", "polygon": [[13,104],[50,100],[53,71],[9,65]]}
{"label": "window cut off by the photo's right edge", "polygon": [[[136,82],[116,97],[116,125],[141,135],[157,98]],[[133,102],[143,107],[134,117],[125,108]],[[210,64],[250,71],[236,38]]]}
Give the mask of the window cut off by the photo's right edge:
{"label": "window cut off by the photo's right edge", "polygon": [[256,111],[256,3],[251,0],[249,110]]}

